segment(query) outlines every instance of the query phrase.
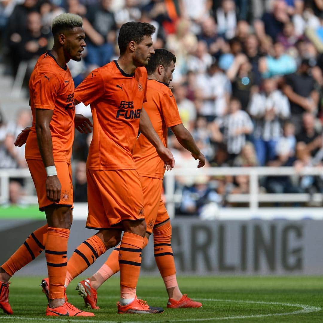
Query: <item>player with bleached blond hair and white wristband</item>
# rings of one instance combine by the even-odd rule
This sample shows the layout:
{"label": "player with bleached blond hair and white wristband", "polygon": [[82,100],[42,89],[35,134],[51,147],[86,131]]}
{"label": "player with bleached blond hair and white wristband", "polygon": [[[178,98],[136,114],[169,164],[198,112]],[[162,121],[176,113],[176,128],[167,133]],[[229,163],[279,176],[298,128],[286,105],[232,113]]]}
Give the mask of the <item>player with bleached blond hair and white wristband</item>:
{"label": "player with bleached blond hair and white wristband", "polygon": [[73,187],[70,158],[75,120],[74,82],[66,63],[81,60],[85,34],[82,18],[62,14],[52,23],[54,46],[39,57],[29,80],[33,124],[25,149],[39,209],[47,224],[33,232],[0,269],[0,307],[13,314],[9,305],[10,277],[45,249],[49,277],[47,316],[94,316],[65,300],[67,243],[72,224]]}

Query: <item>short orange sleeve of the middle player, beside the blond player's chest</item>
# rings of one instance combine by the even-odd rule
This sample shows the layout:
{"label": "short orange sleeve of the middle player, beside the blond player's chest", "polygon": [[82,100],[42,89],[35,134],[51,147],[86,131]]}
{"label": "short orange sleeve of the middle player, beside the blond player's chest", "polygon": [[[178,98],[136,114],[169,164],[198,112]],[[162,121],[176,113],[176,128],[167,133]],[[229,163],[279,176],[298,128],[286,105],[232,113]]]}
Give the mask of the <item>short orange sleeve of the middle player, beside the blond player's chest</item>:
{"label": "short orange sleeve of the middle player, beside the blond player's chest", "polygon": [[104,80],[99,70],[93,70],[75,89],[74,98],[89,105],[104,94]]}

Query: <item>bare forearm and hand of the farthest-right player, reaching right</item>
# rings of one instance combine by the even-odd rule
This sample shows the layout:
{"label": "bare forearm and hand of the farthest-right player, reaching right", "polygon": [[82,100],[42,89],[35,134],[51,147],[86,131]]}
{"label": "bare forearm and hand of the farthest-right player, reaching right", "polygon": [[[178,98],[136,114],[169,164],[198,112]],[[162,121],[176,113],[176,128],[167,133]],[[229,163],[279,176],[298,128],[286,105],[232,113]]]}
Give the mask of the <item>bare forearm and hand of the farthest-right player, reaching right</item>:
{"label": "bare forearm and hand of the farthest-right player, reaching right", "polygon": [[188,151],[192,153],[192,156],[199,160],[197,168],[203,167],[205,165],[205,156],[197,147],[191,133],[183,126],[183,124],[178,124],[171,127],[172,132],[177,138],[178,142]]}

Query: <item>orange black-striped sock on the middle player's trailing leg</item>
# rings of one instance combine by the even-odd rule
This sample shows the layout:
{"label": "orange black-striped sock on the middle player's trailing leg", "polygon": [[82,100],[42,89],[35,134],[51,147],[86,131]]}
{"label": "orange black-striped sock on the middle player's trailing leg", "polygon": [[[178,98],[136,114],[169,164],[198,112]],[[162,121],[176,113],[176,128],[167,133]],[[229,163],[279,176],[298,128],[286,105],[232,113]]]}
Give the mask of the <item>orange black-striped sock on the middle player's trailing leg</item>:
{"label": "orange black-striped sock on the middle player's trailing leg", "polygon": [[68,286],[72,279],[91,266],[95,260],[106,251],[106,246],[97,235],[92,235],[88,240],[82,242],[68,260],[68,276],[65,280],[65,287]]}

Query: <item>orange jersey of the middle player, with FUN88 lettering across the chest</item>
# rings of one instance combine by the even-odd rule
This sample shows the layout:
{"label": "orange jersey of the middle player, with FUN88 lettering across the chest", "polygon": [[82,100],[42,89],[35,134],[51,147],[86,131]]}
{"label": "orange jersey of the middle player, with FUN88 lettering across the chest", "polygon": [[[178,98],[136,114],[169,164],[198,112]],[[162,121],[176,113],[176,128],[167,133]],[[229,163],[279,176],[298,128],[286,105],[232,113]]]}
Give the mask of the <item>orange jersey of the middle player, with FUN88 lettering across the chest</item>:
{"label": "orange jersey of the middle player, with FUN88 lettering across the chest", "polygon": [[130,75],[117,61],[93,70],[75,89],[77,101],[91,104],[93,138],[87,160],[89,169],[136,169],[132,152],[146,90],[146,68],[137,68]]}

